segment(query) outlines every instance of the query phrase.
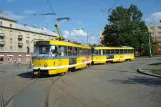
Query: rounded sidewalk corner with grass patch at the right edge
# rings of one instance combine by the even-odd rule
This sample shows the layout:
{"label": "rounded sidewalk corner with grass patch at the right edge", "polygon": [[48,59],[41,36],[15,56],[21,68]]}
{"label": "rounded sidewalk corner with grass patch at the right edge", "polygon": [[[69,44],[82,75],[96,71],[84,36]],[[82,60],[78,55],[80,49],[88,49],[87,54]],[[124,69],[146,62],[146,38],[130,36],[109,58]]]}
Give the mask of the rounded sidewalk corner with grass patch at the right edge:
{"label": "rounded sidewalk corner with grass patch at the right edge", "polygon": [[161,65],[154,65],[155,63],[152,64],[147,64],[144,66],[141,66],[140,68],[138,68],[138,72],[145,74],[145,75],[149,75],[149,76],[154,76],[154,77],[159,77],[161,78],[161,75],[157,75],[157,74],[153,74],[152,70],[159,70],[161,69]]}

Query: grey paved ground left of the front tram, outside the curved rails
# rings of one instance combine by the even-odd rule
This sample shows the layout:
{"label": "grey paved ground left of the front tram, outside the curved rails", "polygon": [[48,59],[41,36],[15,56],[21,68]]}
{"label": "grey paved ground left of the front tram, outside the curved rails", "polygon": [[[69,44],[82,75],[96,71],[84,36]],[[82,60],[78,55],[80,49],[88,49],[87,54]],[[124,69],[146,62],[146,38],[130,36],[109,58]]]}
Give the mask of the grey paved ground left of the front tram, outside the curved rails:
{"label": "grey paved ground left of the front tram, outside the curved rails", "polygon": [[[19,90],[34,80],[29,65],[0,65],[0,91],[3,93],[4,103],[14,96]],[[1,97],[1,96],[0,96]]]}

